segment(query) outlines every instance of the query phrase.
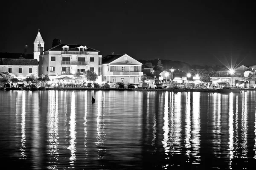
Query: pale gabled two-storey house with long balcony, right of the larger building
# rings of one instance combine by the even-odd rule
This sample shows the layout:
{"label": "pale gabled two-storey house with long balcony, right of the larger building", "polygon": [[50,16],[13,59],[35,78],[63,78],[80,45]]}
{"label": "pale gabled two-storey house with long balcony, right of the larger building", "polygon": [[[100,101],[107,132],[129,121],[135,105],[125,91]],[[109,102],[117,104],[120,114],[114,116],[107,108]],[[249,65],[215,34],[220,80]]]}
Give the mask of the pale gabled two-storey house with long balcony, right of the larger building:
{"label": "pale gabled two-storey house with long balcony, right of the larger building", "polygon": [[139,83],[142,63],[127,54],[108,55],[102,58],[102,82]]}

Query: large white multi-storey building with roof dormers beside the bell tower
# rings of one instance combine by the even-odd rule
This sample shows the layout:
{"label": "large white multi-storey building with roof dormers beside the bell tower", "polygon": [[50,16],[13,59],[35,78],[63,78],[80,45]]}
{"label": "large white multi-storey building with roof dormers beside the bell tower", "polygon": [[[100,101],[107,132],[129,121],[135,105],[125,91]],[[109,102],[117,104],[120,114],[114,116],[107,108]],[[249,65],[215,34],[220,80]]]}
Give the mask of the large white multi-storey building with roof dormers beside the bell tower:
{"label": "large white multi-storey building with roof dormers beside the bell tower", "polygon": [[54,81],[60,77],[73,77],[76,72],[95,71],[102,77],[102,56],[99,51],[85,45],[59,44],[40,55],[39,74]]}

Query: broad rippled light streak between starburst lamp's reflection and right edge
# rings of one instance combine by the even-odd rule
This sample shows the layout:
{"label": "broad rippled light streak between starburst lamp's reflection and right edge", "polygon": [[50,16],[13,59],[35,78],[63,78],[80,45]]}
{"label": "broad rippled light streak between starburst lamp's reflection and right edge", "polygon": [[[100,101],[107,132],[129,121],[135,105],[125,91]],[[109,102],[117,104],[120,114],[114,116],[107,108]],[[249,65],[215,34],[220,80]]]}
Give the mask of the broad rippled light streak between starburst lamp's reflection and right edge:
{"label": "broad rippled light streak between starburst lamp's reflection and right edge", "polygon": [[243,109],[241,118],[241,147],[242,147],[242,157],[247,158],[248,146],[247,146],[247,92],[243,93]]}

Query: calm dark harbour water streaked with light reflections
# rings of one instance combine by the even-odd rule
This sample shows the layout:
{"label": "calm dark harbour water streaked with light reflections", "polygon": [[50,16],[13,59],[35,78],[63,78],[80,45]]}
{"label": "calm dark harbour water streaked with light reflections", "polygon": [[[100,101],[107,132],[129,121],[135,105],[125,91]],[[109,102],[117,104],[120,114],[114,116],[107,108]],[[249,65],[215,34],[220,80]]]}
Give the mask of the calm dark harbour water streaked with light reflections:
{"label": "calm dark harbour water streaked with light reflections", "polygon": [[255,91],[0,91],[0,128],[0,160],[15,169],[256,165]]}

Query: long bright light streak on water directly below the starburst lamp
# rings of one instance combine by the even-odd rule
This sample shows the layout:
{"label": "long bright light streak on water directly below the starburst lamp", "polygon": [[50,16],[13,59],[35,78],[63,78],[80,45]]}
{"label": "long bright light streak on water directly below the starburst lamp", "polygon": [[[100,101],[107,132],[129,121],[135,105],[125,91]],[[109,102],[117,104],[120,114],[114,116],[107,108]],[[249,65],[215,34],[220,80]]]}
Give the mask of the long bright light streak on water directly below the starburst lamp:
{"label": "long bright light streak on water directly below the starburst lamp", "polygon": [[232,160],[233,160],[233,135],[234,135],[234,128],[233,128],[233,93],[230,93],[229,95],[229,114],[228,114],[228,127],[229,127],[229,153],[228,156],[230,158],[229,161],[229,168],[232,169]]}

